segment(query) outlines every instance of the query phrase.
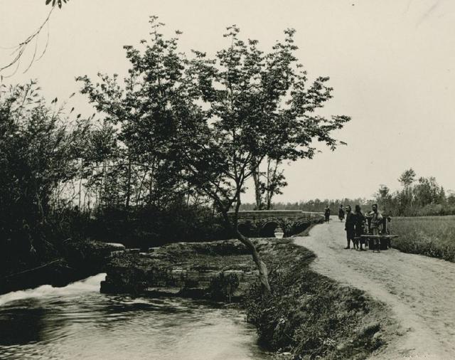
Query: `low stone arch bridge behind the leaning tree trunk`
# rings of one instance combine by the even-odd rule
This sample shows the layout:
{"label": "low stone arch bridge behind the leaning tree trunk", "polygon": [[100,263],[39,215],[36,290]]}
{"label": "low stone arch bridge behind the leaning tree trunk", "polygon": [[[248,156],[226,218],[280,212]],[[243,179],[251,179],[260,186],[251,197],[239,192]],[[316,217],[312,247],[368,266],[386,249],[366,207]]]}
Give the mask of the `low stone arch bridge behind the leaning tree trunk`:
{"label": "low stone arch bridge behind the leaning tree trunk", "polygon": [[323,213],[300,210],[239,211],[238,217],[240,233],[252,238],[273,238],[277,228],[282,228],[284,237],[288,237],[304,231],[311,223],[323,221]]}

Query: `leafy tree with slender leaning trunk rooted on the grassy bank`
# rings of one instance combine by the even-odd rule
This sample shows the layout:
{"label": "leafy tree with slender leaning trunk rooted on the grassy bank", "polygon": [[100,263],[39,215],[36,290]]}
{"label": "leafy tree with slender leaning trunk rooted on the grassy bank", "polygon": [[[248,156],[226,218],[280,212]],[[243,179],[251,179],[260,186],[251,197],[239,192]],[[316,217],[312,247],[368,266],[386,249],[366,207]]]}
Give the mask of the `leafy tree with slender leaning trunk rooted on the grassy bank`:
{"label": "leafy tree with slender leaning trunk rooted on the grassy bank", "polygon": [[306,72],[294,55],[294,30],[284,31],[284,41],[269,53],[260,51],[257,41],[242,41],[239,32],[236,26],[228,28],[229,44],[214,59],[196,52],[188,62],[193,93],[206,107],[193,104],[189,116],[179,117],[174,144],[181,149],[188,181],[213,199],[227,226],[251,250],[269,292],[266,265],[237,229],[245,181],[266,158],[311,159],[318,141],[336,149],[331,133],[349,117],[318,115],[332,89],[328,78],[307,86]]}

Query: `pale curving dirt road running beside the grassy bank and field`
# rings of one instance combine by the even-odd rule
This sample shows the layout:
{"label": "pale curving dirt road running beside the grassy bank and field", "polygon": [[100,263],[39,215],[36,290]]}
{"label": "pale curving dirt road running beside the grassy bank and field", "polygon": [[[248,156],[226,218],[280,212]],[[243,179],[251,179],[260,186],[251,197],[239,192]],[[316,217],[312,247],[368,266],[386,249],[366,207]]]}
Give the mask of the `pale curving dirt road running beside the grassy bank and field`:
{"label": "pale curving dirt road running beside the grassy bank and field", "polygon": [[296,244],[316,253],[316,272],[384,302],[399,326],[375,359],[455,359],[455,263],[400,253],[344,250],[344,223],[315,226]]}

